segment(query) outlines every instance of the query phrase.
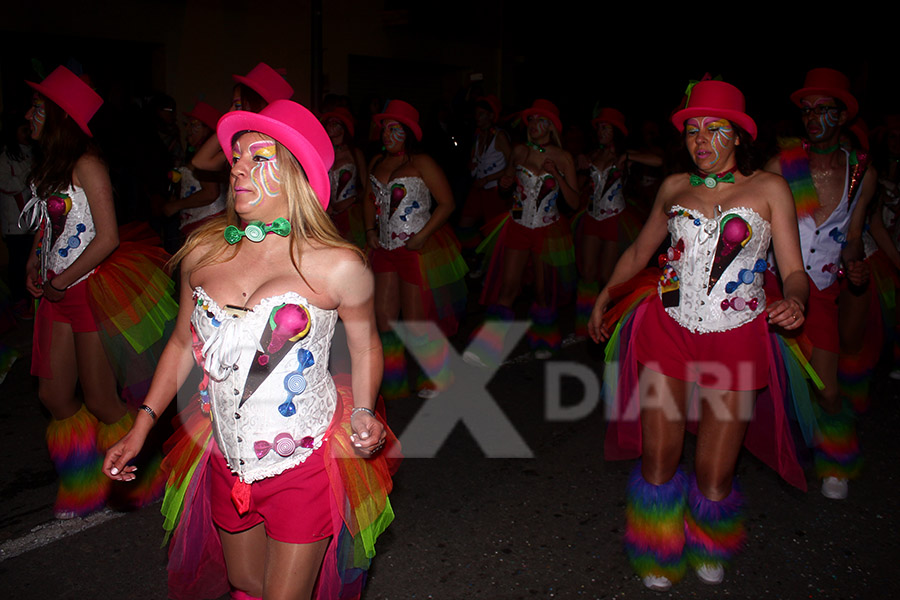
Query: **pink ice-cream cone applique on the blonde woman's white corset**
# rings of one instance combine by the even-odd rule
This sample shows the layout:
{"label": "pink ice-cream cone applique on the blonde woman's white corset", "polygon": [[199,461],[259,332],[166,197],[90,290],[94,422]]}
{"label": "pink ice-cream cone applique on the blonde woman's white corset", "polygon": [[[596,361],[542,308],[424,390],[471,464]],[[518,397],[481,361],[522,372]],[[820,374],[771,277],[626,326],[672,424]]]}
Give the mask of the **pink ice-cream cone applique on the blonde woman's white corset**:
{"label": "pink ice-cream cone applique on the blonde woman's white corset", "polygon": [[[312,321],[305,306],[281,304],[272,309],[269,314],[269,326],[263,329],[260,339],[260,347],[263,351],[256,351],[238,407],[243,406],[256,388],[269,376],[269,363],[277,365],[291,351],[293,346],[287,342],[303,339],[309,334],[311,326]],[[311,366],[314,362],[307,366]]]}

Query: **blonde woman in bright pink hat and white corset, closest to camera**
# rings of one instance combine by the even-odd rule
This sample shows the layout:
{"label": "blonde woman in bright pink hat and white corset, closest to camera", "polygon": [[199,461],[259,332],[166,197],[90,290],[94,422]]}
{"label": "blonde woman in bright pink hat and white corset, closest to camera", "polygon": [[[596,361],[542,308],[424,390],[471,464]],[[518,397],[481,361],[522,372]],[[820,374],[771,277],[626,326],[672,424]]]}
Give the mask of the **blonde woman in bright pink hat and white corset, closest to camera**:
{"label": "blonde woman in bright pink hat and white corset, closest to camera", "polygon": [[[232,163],[227,210],[173,258],[178,322],[104,472],[133,479],[128,460],[196,361],[203,381],[167,458],[170,596],[230,583],[239,599],[358,598],[393,518],[372,273],[325,213],[334,149],[311,112],[276,100],[228,113],[217,133]],[[333,378],[338,318],[352,374]]]}

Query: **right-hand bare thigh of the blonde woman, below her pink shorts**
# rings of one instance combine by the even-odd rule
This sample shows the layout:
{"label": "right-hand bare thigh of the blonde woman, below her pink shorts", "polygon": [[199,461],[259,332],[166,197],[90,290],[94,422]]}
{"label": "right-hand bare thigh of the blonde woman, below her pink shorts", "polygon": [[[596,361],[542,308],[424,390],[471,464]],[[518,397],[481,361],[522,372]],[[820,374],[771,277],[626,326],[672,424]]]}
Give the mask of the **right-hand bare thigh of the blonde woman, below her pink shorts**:
{"label": "right-hand bare thigh of the blonde woman, below her pink shorts", "polygon": [[309,600],[328,542],[287,544],[269,539],[266,548],[266,600]]}

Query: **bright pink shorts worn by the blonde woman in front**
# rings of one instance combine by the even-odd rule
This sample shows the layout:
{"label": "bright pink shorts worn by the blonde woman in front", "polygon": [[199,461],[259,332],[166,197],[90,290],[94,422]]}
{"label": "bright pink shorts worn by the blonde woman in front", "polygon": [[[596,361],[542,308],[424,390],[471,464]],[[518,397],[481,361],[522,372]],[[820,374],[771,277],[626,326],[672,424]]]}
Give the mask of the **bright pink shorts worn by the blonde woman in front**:
{"label": "bright pink shorts worn by the blonde woman in front", "polygon": [[331,484],[323,452],[320,448],[306,462],[250,484],[250,510],[240,515],[231,500],[231,489],[238,478],[215,446],[210,457],[213,521],[229,533],[264,523],[266,535],[288,544],[309,544],[327,538],[332,534],[328,497]]}

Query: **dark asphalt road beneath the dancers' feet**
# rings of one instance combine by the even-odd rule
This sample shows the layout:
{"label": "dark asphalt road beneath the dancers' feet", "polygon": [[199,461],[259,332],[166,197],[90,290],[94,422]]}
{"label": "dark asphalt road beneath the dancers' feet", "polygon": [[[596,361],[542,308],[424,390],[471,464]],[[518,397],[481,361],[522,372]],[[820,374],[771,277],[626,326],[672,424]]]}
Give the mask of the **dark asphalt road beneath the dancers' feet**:
{"label": "dark asphalt road beneath the dancers' feet", "polygon": [[[165,598],[158,504],[53,520],[47,416],[28,375],[26,329],[4,337],[25,357],[0,387],[0,587],[20,599]],[[599,353],[588,342],[575,343],[556,359],[562,361],[596,370]],[[482,448],[492,448],[491,436],[506,431],[476,428],[472,435],[468,423],[457,423],[435,442],[433,457],[404,461],[392,495],[396,520],[379,540],[366,599],[893,596],[900,557],[894,437],[900,383],[883,373],[876,378],[872,407],[859,423],[866,468],[847,500],[824,498],[811,472],[808,492],[789,487],[745,452],[738,464],[748,503],[745,551],[722,585],[709,587],[689,574],[659,594],[643,588],[622,551],[633,464],[604,461],[599,405],[575,420],[547,419],[547,398],[554,396],[545,389],[550,364],[504,366],[490,395],[481,397],[486,408],[499,407],[508,417],[532,458],[487,458]],[[565,380],[560,397],[568,406],[590,408],[596,399],[583,395],[579,383]],[[453,392],[432,402],[442,400],[451,402]],[[422,411],[446,408],[423,405],[411,398],[388,406],[401,440]],[[692,452],[688,439],[685,463]]]}

